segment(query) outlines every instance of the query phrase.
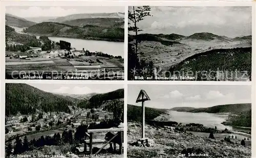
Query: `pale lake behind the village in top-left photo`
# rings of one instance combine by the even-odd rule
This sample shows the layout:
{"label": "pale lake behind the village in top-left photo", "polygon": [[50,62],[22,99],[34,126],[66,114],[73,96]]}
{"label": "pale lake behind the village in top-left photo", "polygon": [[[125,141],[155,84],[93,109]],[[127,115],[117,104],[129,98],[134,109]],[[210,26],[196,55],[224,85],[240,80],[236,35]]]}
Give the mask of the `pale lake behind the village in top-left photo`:
{"label": "pale lake behind the village in top-left photo", "polygon": [[[39,37],[39,36],[37,36]],[[113,56],[124,55],[124,42],[113,42],[103,40],[88,40],[88,39],[76,39],[65,37],[48,37],[50,40],[59,42],[64,40],[71,43],[71,47],[77,50],[88,50],[90,52],[102,52]]]}

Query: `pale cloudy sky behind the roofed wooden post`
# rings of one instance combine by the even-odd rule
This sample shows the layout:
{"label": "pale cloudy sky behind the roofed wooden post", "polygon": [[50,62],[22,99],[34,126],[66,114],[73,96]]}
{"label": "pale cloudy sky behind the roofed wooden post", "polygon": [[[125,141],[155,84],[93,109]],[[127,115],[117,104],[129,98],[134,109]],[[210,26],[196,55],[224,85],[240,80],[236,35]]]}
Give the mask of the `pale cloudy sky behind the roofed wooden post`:
{"label": "pale cloudy sky behind the roofed wooden post", "polygon": [[146,107],[211,107],[215,105],[251,103],[249,85],[128,85],[127,103],[136,103],[140,89],[144,89],[150,101]]}

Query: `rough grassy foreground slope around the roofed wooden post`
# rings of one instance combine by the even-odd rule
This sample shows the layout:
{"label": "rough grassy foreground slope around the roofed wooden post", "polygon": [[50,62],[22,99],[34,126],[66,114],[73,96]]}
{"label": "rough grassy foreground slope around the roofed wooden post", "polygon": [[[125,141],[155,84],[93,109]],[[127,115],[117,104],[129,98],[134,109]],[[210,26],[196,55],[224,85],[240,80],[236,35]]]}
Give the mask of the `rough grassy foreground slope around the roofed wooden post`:
{"label": "rough grassy foreground slope around the roofed wooden post", "polygon": [[[128,123],[127,142],[136,142],[141,137],[141,125]],[[136,147],[127,145],[127,157],[183,157],[180,153],[204,153],[208,157],[251,157],[251,141],[245,141],[246,146],[240,145],[241,140],[231,139],[233,143],[223,139],[209,139],[194,134],[176,132],[167,128],[145,126],[145,137],[153,139],[153,147]]]}

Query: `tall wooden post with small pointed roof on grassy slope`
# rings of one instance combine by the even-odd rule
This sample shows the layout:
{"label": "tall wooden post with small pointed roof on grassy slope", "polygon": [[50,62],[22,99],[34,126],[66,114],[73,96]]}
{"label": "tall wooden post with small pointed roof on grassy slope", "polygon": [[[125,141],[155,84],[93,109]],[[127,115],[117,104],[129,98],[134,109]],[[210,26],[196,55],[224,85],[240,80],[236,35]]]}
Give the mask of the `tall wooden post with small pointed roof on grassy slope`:
{"label": "tall wooden post with small pointed roof on grassy slope", "polygon": [[136,100],[136,103],[141,102],[142,105],[142,138],[145,138],[145,106],[144,101],[150,100],[150,97],[146,94],[146,92],[141,89],[139,96]]}

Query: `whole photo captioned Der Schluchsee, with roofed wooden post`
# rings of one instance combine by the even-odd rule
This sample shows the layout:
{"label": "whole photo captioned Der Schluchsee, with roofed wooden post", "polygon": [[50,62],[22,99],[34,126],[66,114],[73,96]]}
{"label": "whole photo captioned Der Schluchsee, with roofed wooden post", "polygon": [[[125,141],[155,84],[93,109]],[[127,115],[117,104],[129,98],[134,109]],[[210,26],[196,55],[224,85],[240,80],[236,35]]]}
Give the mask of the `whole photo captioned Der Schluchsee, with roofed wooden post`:
{"label": "whole photo captioned Der Schluchsee, with roofed wooden post", "polygon": [[130,84],[127,157],[251,157],[250,85]]}

